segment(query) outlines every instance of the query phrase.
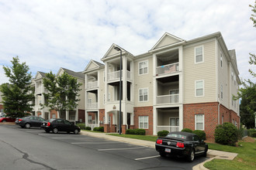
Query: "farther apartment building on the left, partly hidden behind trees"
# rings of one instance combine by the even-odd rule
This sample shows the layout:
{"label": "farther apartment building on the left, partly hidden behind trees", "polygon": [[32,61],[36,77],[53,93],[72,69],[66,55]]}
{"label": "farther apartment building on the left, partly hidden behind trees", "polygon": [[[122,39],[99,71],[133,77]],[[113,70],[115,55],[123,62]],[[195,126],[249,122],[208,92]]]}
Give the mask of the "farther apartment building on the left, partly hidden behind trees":
{"label": "farther apartment building on the left, partly hidden behind trees", "polygon": [[45,104],[46,100],[43,93],[47,93],[47,89],[43,87],[43,78],[46,78],[43,72],[38,71],[33,79],[33,86],[35,88],[35,100],[33,101],[33,115],[43,117],[45,119],[50,118],[64,118],[69,121],[85,122],[85,75],[81,72],[74,72],[60,68],[56,76],[61,76],[63,73],[67,73],[78,79],[78,83],[81,83],[81,91],[79,92],[78,107],[74,110],[64,110],[60,114],[57,114],[57,110],[50,110],[49,107],[41,107],[41,104]]}

